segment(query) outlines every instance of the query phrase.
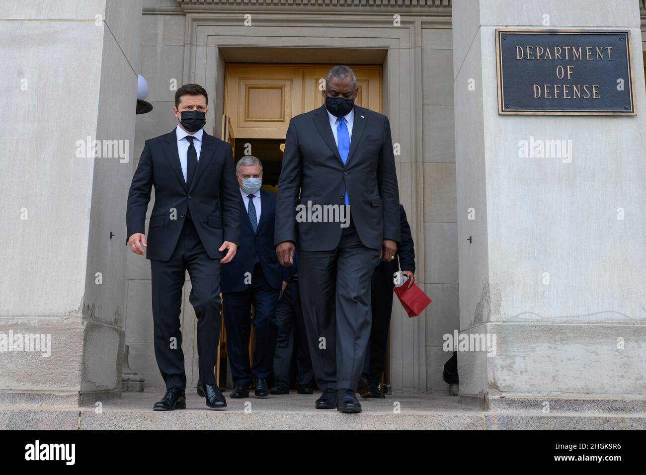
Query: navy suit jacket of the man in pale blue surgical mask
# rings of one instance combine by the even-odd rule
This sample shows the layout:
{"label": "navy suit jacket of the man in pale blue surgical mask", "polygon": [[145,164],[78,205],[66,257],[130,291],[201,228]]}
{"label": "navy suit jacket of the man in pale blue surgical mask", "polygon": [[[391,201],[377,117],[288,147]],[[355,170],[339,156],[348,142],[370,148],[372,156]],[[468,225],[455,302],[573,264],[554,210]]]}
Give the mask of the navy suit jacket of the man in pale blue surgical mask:
{"label": "navy suit jacket of the man in pale blue surgical mask", "polygon": [[240,202],[240,220],[243,223],[240,233],[240,248],[238,248],[233,260],[223,264],[220,268],[222,273],[220,288],[223,292],[245,290],[248,286],[248,284],[245,284],[245,273],[253,274],[257,254],[267,282],[273,288],[280,290],[282,273],[274,246],[276,195],[269,193],[269,191],[260,191],[260,221],[255,234],[240,191],[238,191],[238,200]]}

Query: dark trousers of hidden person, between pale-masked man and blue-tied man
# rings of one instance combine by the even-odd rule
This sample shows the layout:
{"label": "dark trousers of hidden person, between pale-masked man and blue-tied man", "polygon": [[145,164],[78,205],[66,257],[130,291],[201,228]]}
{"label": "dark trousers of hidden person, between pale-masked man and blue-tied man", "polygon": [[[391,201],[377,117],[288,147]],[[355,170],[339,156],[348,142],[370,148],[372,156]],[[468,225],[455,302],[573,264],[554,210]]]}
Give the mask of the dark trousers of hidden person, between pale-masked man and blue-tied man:
{"label": "dark trousers of hidden person, between pale-masked man and blue-tied man", "polygon": [[296,366],[298,369],[296,384],[298,386],[309,385],[312,381],[313,370],[309,357],[303,311],[300,306],[300,295],[298,295],[298,280],[291,280],[287,283],[282,297],[276,305],[276,323],[278,324],[278,335],[274,356],[274,384],[283,383],[289,386],[291,355],[296,334]]}

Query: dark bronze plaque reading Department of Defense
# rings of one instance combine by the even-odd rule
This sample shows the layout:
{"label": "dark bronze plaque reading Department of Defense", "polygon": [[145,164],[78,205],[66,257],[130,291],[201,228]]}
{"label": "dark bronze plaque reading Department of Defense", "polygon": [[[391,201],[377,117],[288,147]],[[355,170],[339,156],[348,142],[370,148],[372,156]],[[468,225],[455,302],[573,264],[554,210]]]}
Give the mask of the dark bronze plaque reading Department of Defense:
{"label": "dark bronze plaque reading Department of Defense", "polygon": [[499,114],[636,115],[629,30],[495,30]]}

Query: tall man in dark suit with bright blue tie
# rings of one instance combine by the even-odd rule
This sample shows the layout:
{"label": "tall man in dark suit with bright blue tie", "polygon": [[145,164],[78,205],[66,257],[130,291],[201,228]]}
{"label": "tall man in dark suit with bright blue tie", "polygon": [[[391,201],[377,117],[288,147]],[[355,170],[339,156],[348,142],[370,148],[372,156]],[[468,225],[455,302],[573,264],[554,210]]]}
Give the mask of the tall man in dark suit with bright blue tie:
{"label": "tall man in dark suit with bright blue tie", "polygon": [[[370,337],[370,276],[377,259],[394,259],[399,190],[390,123],[354,104],[352,70],[333,67],[322,94],[325,104],[296,116],[287,129],[276,254],[289,266],[298,247],[307,339],[323,392],[316,407],[360,412],[355,392]],[[348,205],[349,220],[339,222]],[[318,219],[301,213],[304,207],[339,215]]]}

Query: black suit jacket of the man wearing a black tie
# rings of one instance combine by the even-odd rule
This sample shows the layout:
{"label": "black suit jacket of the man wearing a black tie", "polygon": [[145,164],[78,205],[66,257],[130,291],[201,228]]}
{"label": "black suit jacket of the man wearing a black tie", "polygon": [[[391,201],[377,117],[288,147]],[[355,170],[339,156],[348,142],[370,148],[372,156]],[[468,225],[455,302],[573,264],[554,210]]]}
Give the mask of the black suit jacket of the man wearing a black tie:
{"label": "black suit jacket of the man wearing a black tie", "polygon": [[[191,211],[195,228],[209,257],[224,257],[224,253],[218,251],[224,241],[239,244],[240,192],[231,144],[204,132],[198,167],[191,189],[187,189],[175,129],[146,140],[128,193],[127,238],[145,230],[152,187],[155,189],[155,204],[148,226],[147,259],[171,258],[182,232],[187,209]],[[173,209],[176,210],[174,218],[171,213]]]}

